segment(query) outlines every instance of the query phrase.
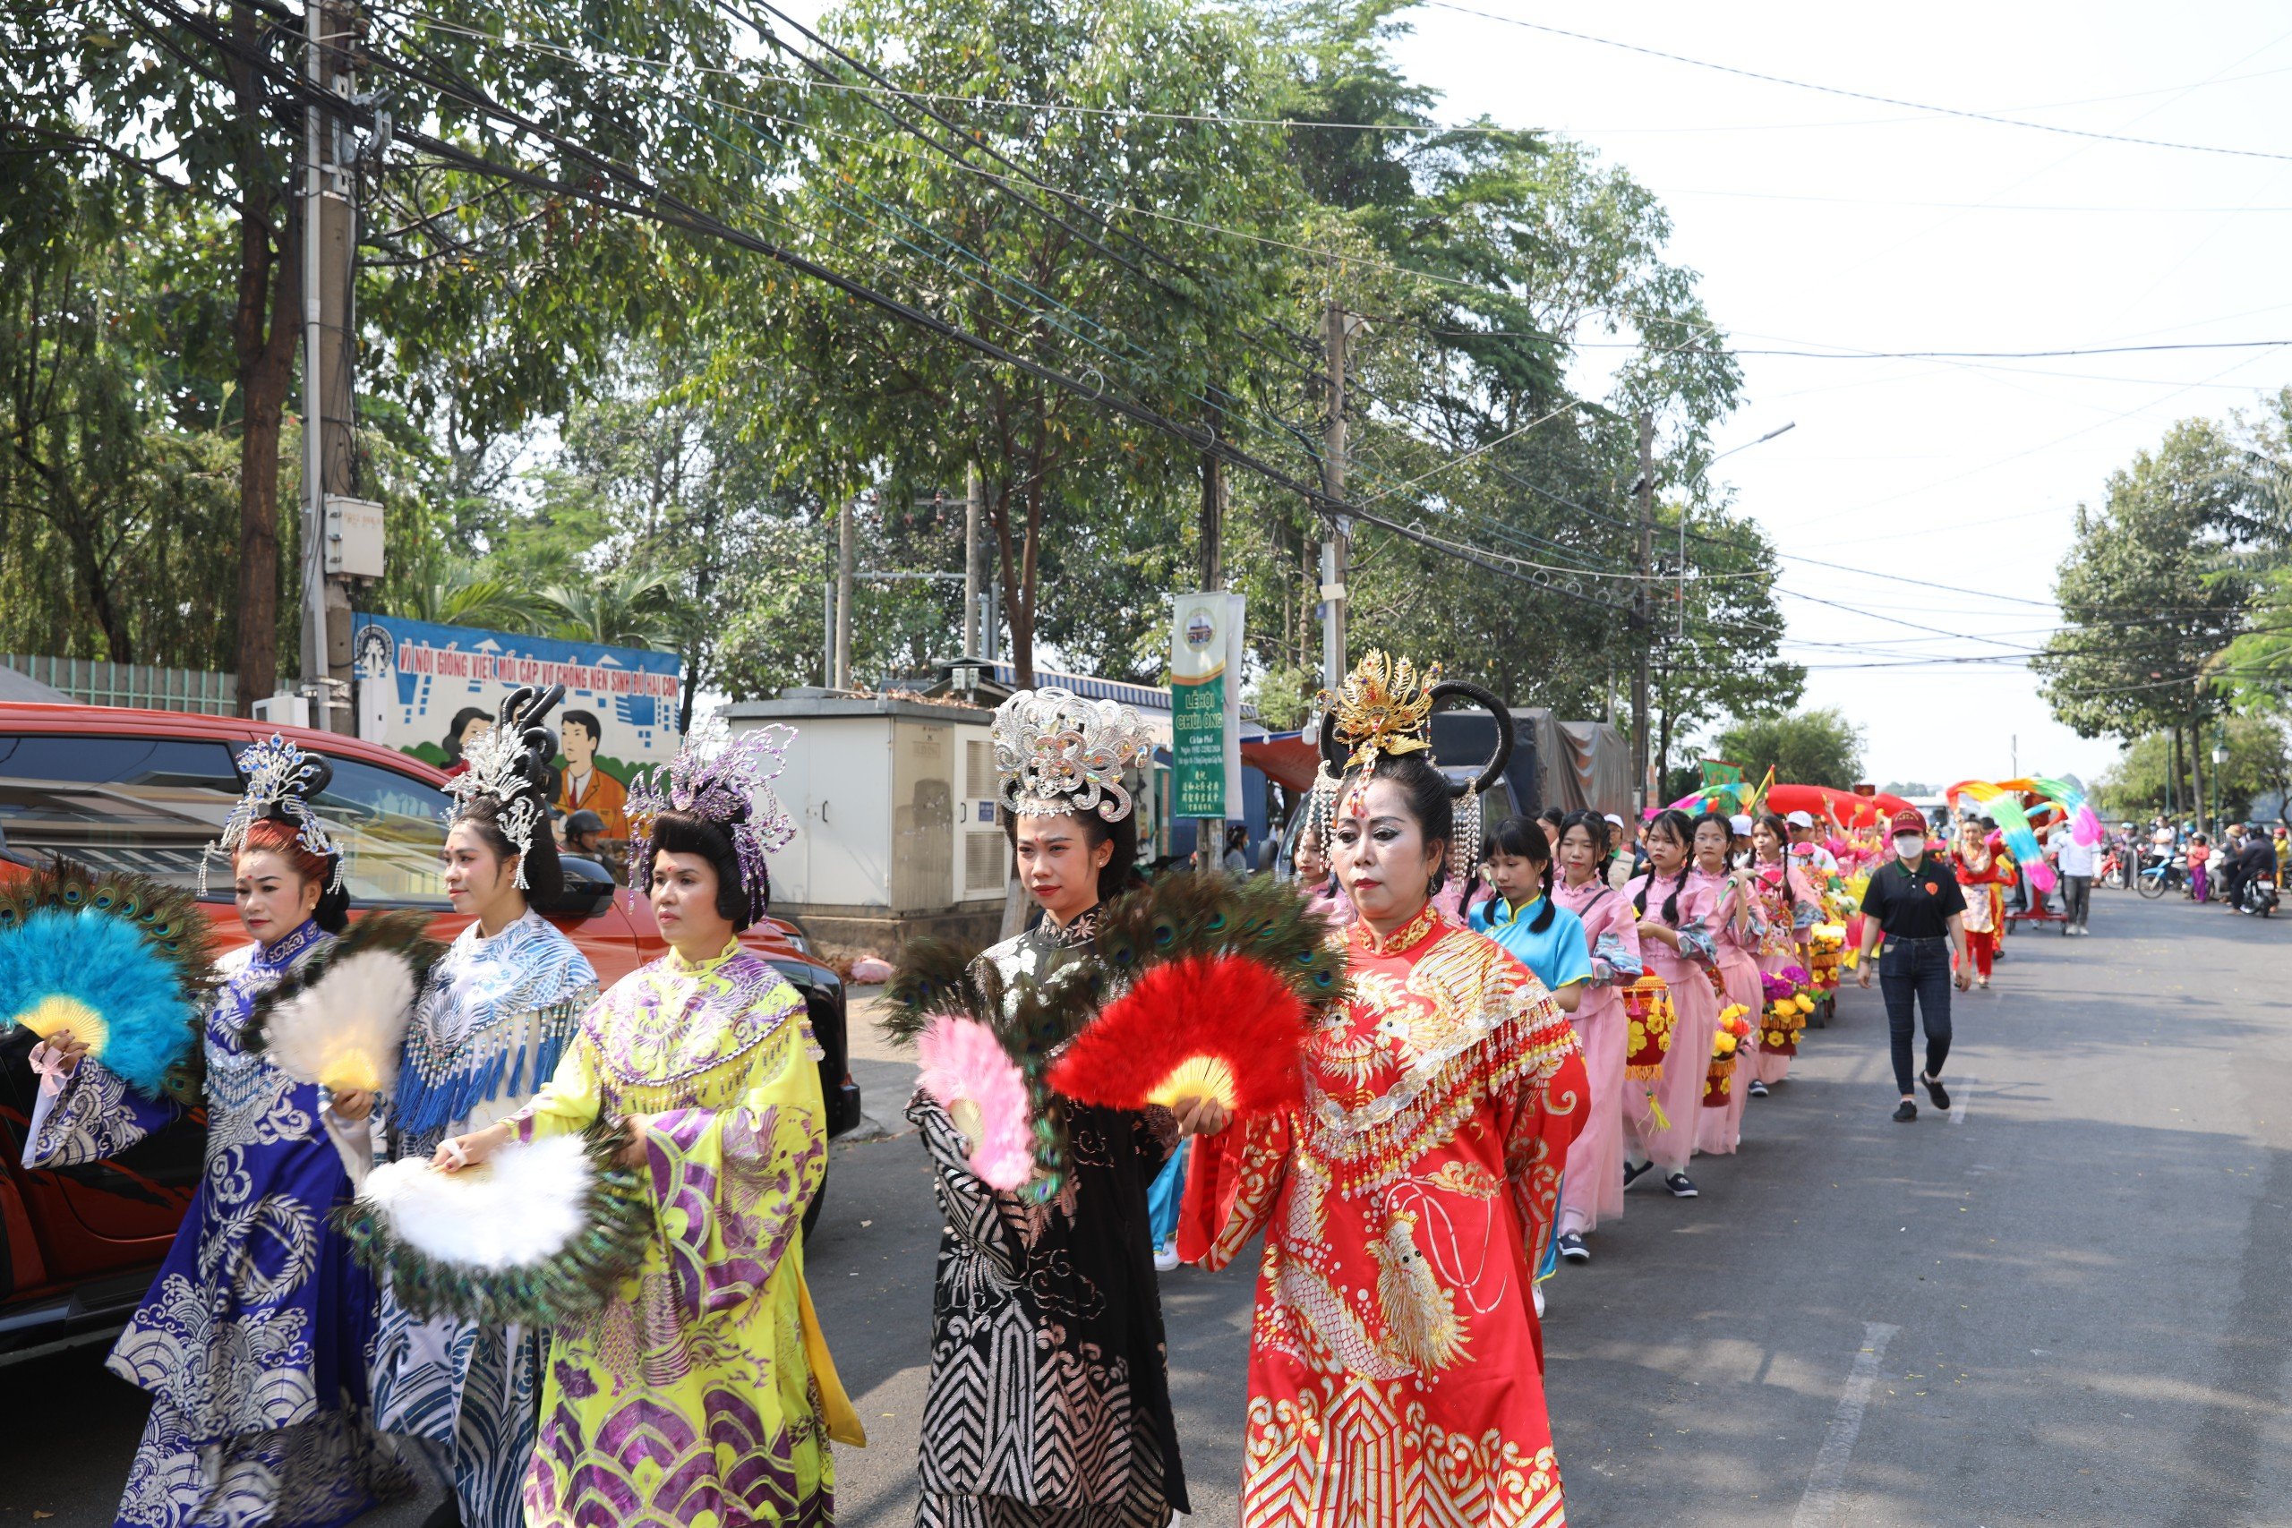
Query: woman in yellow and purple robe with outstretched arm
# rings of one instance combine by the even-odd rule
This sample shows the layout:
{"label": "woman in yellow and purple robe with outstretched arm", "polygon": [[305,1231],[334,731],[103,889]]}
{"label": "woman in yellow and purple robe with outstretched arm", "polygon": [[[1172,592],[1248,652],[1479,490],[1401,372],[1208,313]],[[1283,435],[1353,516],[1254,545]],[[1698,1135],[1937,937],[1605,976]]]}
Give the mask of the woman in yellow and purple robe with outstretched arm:
{"label": "woman in yellow and purple robe with outstretched arm", "polygon": [[[804,1205],[827,1171],[821,1049],[795,990],[736,937],[763,864],[745,790],[681,795],[646,813],[633,861],[669,953],[598,999],[532,1104],[438,1148],[454,1168],[619,1120],[621,1161],[653,1198],[637,1274],[550,1340],[529,1528],[832,1523],[827,1443],[864,1441],[804,1290]],[[733,795],[740,820],[692,809]]]}

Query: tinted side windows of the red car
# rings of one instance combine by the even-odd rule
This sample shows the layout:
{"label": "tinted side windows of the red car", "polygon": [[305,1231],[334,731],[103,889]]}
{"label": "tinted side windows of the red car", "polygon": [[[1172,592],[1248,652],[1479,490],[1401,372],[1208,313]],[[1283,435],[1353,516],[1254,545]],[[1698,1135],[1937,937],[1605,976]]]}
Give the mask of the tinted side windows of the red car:
{"label": "tinted side windows of the red car", "polygon": [[[332,758],[319,797],[342,843],[351,898],[445,907],[438,857],[447,797],[410,774]],[[64,854],[96,871],[199,884],[199,857],[238,802],[222,740],[89,733],[0,735],[0,843],[21,861]],[[209,861],[213,896],[231,873]]]}

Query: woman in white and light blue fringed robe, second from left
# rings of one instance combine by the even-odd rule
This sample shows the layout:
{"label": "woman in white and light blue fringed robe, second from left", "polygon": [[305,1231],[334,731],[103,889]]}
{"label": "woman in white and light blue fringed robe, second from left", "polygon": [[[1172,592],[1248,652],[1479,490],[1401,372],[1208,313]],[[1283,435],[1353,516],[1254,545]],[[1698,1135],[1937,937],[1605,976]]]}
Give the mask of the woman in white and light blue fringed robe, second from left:
{"label": "woman in white and light blue fringed robe, second from left", "polygon": [[[596,1001],[589,960],[527,907],[518,887],[520,859],[536,887],[562,875],[555,850],[543,848],[548,829],[520,845],[504,834],[504,816],[497,797],[474,795],[447,834],[447,896],[477,921],[431,969],[406,1029],[397,1090],[385,1106],[394,1161],[429,1161],[447,1136],[523,1109]],[[431,1528],[523,1526],[548,1336],[415,1315],[383,1283],[374,1411],[385,1432],[419,1439],[447,1487]]]}

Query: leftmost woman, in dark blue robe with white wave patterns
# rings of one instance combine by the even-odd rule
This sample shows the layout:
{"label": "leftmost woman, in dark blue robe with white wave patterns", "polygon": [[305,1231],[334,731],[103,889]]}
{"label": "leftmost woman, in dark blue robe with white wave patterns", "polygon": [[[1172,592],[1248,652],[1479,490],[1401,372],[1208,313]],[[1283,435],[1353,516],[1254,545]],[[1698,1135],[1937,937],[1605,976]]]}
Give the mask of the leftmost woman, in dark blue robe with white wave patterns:
{"label": "leftmost woman, in dark blue robe with white wave patterns", "polygon": [[[342,898],[321,905],[330,866],[280,822],[248,829],[234,875],[254,944],[225,958],[206,1019],[206,1171],[108,1358],[151,1393],[121,1528],[332,1528],[408,1484],[367,1407],[374,1283],[328,1226],[367,1132],[243,1045],[254,1001],[332,942]],[[25,1166],[101,1161],[181,1116],[85,1049],[34,1049]]]}

